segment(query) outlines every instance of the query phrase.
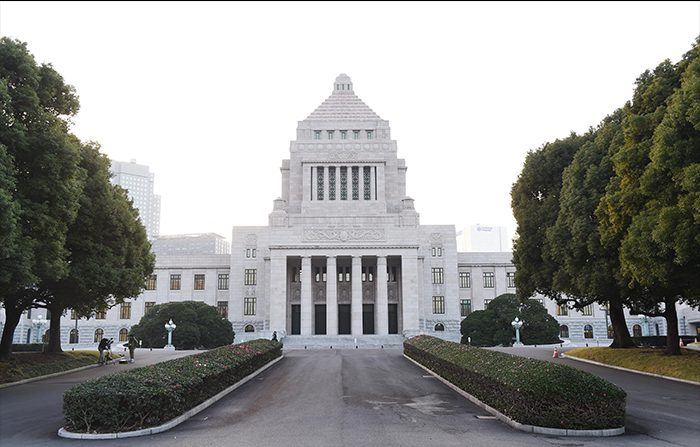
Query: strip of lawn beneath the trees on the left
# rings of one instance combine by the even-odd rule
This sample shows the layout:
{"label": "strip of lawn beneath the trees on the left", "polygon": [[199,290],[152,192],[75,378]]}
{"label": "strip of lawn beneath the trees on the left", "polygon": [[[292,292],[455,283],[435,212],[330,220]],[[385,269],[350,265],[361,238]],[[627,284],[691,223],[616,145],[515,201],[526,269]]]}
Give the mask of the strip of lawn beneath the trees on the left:
{"label": "strip of lawn beneath the trees on the left", "polygon": [[61,354],[15,353],[9,361],[0,361],[0,384],[94,365],[99,357],[97,351],[66,351]]}

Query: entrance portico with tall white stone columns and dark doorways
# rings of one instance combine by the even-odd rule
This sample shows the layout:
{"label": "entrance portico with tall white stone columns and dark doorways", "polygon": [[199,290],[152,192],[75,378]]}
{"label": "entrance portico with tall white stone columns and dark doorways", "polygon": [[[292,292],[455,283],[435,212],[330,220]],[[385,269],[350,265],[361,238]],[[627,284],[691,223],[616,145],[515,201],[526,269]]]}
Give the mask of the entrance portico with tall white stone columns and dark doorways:
{"label": "entrance portico with tall white stone columns and dark doorways", "polygon": [[[387,335],[417,311],[417,247],[383,250],[270,251],[270,328],[289,335]],[[372,254],[370,254],[372,253]],[[407,299],[414,305],[406,305]],[[274,309],[274,311],[273,311]],[[283,312],[278,312],[282,310]]]}

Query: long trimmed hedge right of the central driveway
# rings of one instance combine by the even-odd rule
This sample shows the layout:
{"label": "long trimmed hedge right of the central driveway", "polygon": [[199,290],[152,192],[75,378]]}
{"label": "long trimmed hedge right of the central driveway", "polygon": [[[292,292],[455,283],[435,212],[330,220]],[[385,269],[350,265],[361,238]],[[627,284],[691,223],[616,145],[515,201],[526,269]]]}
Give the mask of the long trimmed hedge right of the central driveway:
{"label": "long trimmed hedge right of the central driveway", "polygon": [[625,425],[626,393],[587,372],[420,335],[404,353],[521,424],[569,430]]}

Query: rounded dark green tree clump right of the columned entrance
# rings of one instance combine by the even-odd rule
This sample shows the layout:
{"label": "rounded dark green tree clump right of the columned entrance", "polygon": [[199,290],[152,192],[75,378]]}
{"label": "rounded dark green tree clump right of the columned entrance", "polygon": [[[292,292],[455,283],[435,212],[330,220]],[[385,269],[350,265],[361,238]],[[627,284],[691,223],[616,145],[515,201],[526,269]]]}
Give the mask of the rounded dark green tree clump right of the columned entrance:
{"label": "rounded dark green tree clump right of the columned entrance", "polygon": [[471,337],[474,346],[510,346],[515,337],[512,322],[523,321],[521,340],[525,344],[558,343],[559,323],[535,300],[520,304],[516,295],[504,293],[489,303],[486,310],[469,314],[461,324],[462,343]]}

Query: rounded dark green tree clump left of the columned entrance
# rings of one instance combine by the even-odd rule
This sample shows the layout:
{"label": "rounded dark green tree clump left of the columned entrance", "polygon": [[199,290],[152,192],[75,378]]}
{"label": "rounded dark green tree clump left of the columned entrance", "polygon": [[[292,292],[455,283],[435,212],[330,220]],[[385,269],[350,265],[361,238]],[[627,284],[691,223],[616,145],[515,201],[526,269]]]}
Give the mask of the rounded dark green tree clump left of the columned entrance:
{"label": "rounded dark green tree clump left of the columned entrance", "polygon": [[162,348],[167,343],[165,323],[177,325],[173,345],[182,349],[204,346],[207,349],[233,343],[233,326],[214,306],[196,301],[158,304],[131,328],[131,334],[143,340],[143,346]]}

